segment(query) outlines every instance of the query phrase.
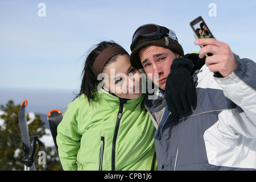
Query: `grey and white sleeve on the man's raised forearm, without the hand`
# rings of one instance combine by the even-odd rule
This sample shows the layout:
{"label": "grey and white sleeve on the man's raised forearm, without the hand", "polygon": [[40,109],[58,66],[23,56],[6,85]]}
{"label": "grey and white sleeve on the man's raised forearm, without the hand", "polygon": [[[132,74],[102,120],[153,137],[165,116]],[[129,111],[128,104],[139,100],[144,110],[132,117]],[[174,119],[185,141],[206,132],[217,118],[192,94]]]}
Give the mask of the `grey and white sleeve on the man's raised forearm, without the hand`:
{"label": "grey and white sleeve on the man's raised forearm, without the hand", "polygon": [[236,56],[237,68],[224,77],[215,78],[226,97],[240,106],[256,125],[256,63]]}

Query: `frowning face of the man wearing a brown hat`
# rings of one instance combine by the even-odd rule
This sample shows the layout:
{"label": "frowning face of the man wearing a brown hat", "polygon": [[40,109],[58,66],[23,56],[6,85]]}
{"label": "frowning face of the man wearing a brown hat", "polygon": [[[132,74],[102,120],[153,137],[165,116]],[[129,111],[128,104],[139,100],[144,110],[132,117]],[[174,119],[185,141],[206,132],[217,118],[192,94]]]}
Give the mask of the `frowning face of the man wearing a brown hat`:
{"label": "frowning face of the man wearing a brown hat", "polygon": [[148,46],[139,51],[141,64],[148,77],[163,90],[166,88],[172,61],[178,56],[170,49],[158,46]]}

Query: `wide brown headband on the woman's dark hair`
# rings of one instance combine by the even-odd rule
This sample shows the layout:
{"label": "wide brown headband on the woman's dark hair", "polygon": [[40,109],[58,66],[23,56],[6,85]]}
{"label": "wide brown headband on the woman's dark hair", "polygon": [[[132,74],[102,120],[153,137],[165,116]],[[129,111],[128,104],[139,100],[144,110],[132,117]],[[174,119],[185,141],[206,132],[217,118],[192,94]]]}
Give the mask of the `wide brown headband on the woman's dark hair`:
{"label": "wide brown headband on the woman's dark hair", "polygon": [[121,46],[111,46],[104,49],[100,55],[96,57],[96,60],[93,63],[92,71],[94,76],[97,78],[100,73],[102,73],[102,69],[106,62],[114,55],[118,55],[119,53],[126,53],[129,55],[125,49]]}

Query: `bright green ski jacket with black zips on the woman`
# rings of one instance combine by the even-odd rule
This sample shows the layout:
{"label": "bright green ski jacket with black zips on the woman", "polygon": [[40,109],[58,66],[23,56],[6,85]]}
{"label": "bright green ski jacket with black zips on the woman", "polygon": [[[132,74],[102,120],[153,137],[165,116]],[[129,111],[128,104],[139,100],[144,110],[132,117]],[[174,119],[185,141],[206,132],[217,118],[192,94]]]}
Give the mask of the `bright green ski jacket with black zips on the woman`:
{"label": "bright green ski jacket with black zips on the woman", "polygon": [[84,95],[71,102],[57,127],[63,169],[157,169],[155,127],[144,97],[123,100],[102,89],[90,104]]}

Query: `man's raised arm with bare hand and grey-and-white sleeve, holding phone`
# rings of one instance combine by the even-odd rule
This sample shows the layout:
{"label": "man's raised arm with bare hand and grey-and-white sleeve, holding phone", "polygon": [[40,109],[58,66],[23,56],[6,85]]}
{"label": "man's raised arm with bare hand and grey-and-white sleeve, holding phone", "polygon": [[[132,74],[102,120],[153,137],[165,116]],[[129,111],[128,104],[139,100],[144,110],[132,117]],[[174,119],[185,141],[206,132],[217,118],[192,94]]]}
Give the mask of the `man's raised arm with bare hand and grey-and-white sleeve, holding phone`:
{"label": "man's raised arm with bare hand and grey-and-white sleeve, holding phone", "polygon": [[[233,55],[229,46],[215,39],[199,39],[196,44],[207,45],[200,51],[200,56],[213,53],[208,56],[205,64],[210,71],[219,72],[223,78],[214,77],[221,86],[226,97],[237,106],[238,113],[236,121],[229,123],[238,133],[247,137],[256,137],[256,63],[249,59],[240,59]],[[230,118],[231,119],[231,118]],[[233,120],[233,119],[231,119]],[[235,121],[235,120],[233,120]],[[229,125],[228,124],[228,125]]]}

